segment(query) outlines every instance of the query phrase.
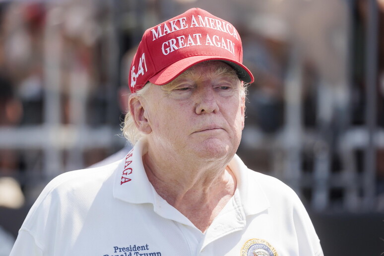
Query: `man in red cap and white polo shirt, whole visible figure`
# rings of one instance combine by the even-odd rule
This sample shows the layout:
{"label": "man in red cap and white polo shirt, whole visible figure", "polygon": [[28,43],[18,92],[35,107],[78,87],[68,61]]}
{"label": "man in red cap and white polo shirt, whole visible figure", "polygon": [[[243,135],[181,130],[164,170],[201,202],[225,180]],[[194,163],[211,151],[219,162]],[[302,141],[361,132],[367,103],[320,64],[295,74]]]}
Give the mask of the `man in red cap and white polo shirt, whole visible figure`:
{"label": "man in red cap and white polo shirt, whole visible figure", "polygon": [[148,29],[129,76],[133,149],[54,179],[11,256],[323,255],[296,194],[235,155],[254,78],[230,23],[193,8]]}

